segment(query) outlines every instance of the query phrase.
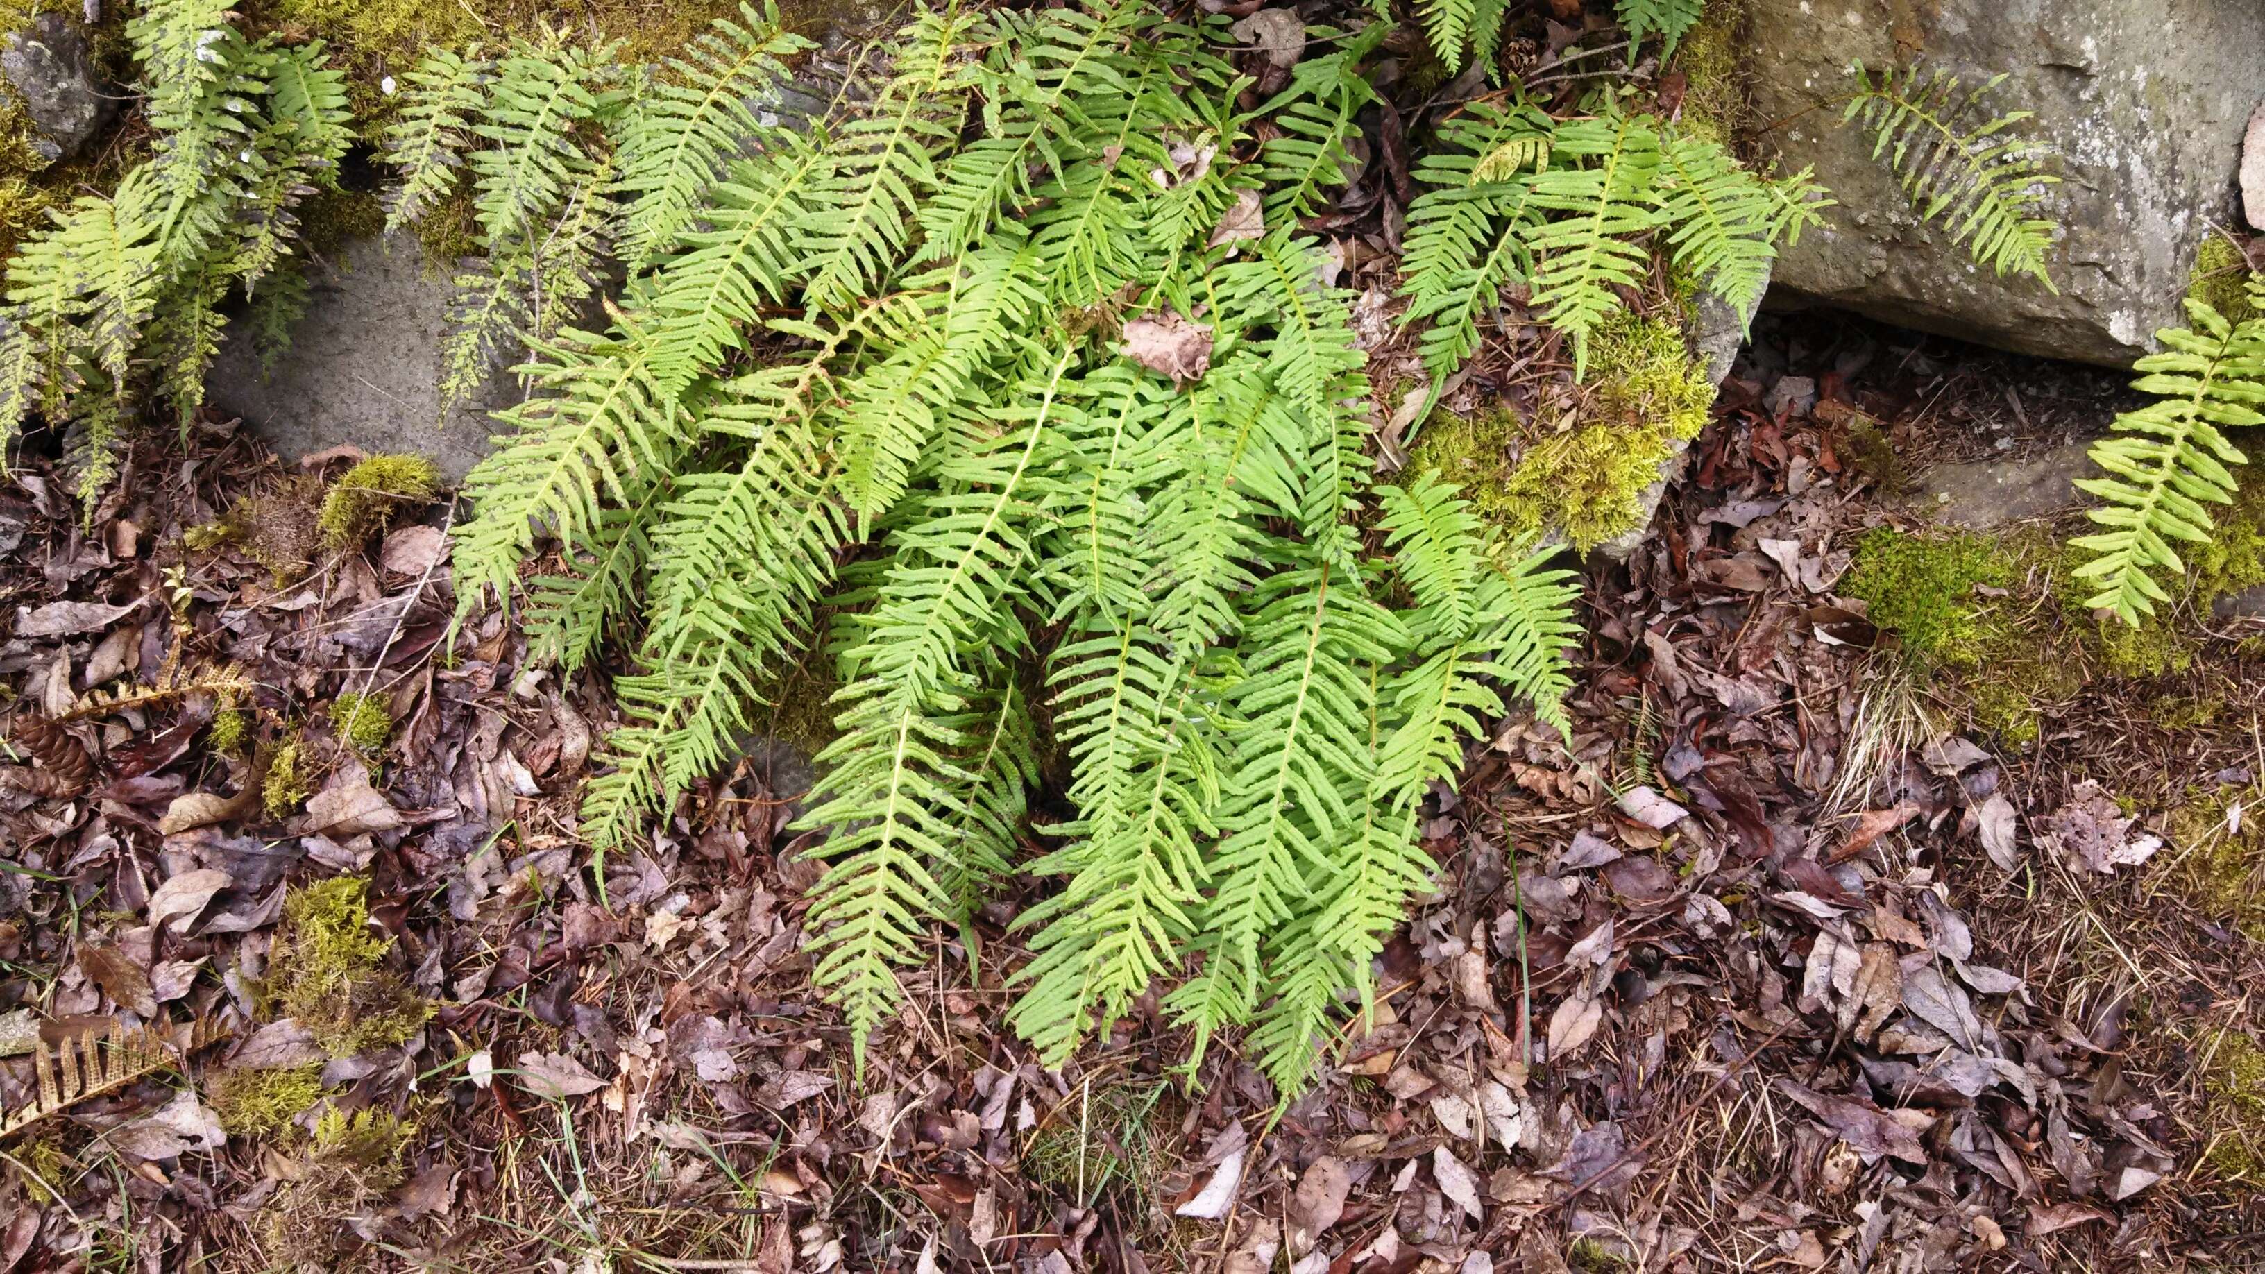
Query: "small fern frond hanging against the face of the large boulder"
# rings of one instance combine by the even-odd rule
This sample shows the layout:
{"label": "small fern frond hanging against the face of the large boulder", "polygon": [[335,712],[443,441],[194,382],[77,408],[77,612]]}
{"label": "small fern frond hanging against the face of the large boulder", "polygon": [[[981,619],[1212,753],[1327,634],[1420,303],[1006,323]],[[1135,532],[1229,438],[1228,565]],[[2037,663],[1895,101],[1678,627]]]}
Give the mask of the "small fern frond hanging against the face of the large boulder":
{"label": "small fern frond hanging against the face of the large boulder", "polygon": [[1871,73],[1855,66],[1857,88],[1841,111],[1873,136],[1871,154],[1884,161],[1921,220],[1941,222],[1950,243],[1998,274],[2027,274],[2054,288],[2045,272],[2054,224],[2036,215],[2045,147],[2007,136],[2029,111],[1989,116],[1984,104],[1998,75],[1968,88],[1946,68],[1907,66]]}

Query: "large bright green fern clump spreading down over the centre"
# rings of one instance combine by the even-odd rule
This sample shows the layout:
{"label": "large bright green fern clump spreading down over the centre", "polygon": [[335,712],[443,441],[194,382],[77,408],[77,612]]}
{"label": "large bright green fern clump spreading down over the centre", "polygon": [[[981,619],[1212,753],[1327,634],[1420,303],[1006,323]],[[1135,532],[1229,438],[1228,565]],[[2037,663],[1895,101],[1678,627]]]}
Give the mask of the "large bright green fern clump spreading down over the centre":
{"label": "large bright green fern clump spreading down over the centre", "polygon": [[[1010,1020],[1042,1056],[1164,988],[1198,1041],[1296,1022],[1259,1036],[1289,1095],[1427,877],[1427,784],[1502,696],[1554,716],[1565,691],[1570,580],[1488,546],[1445,487],[1373,485],[1350,297],[1298,233],[1348,177],[1379,32],[1253,109],[1223,27],[1137,0],[951,7],[809,134],[718,107],[684,163],[609,136],[704,111],[698,84],[734,82],[718,52],[646,125],[632,104],[571,136],[623,172],[621,224],[646,204],[661,229],[623,233],[609,331],[535,345],[535,394],[467,483],[458,598],[507,601],[564,544],[528,589],[535,651],[632,664],[582,805],[600,850],[745,748],[784,662],[829,653],[806,934],[858,1061],[929,927],[978,925],[1033,873],[1060,889],[1017,923]],[[412,118],[494,141],[482,109]],[[494,150],[467,168],[501,209]],[[451,165],[394,154],[421,190],[396,209],[428,209]],[[1257,238],[1214,245],[1253,195]],[[537,202],[482,222],[492,258],[557,220]],[[1207,347],[1180,381],[1128,356],[1128,322],[1166,313]],[[1379,526],[1379,499],[1422,512]],[[1040,719],[1067,821],[1026,805]],[[1291,968],[1282,934],[1316,925],[1323,959]]]}

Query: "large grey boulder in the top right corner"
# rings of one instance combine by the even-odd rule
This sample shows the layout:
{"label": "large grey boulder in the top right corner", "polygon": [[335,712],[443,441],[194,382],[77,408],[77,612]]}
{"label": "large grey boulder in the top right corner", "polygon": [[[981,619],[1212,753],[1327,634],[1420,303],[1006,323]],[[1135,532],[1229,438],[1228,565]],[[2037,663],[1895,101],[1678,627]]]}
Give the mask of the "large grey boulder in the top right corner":
{"label": "large grey boulder in the top right corner", "polygon": [[[1837,209],[1778,261],[1773,304],[1810,299],[1982,345],[2129,365],[2181,324],[2195,247],[2229,224],[2242,129],[2265,79],[2251,0],[1751,0],[1755,118],[1780,165],[1814,165]],[[1921,224],[1871,141],[1841,127],[1848,66],[1912,57],[1971,84],[2050,143],[2063,238],[2050,272],[1998,279]]]}

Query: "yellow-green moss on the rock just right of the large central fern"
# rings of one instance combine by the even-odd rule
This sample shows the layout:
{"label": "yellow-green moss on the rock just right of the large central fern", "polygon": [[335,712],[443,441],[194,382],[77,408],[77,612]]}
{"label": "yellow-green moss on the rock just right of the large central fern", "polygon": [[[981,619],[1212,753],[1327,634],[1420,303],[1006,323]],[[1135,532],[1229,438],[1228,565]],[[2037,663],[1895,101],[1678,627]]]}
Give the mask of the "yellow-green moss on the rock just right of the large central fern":
{"label": "yellow-green moss on the rock just right of the large central fern", "polygon": [[1511,535],[1558,530],[1588,551],[1635,530],[1660,465],[1706,428],[1715,385],[1665,317],[1604,324],[1590,338],[1588,370],[1586,404],[1556,433],[1529,431],[1506,413],[1465,419],[1438,410],[1407,472],[1461,485]]}

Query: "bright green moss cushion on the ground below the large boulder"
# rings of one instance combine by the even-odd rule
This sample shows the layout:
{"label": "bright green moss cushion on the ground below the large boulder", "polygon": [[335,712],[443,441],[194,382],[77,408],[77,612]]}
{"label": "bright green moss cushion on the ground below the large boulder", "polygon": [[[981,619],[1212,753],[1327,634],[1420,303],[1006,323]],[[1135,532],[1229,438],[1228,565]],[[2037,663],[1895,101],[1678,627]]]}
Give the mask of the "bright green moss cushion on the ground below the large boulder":
{"label": "bright green moss cushion on the ground below the large boulder", "polygon": [[1991,605],[1977,587],[2011,585],[2011,562],[1984,535],[1909,535],[1887,526],[1864,533],[1841,592],[1871,621],[1903,637],[1934,664],[1973,669],[1993,637]]}

